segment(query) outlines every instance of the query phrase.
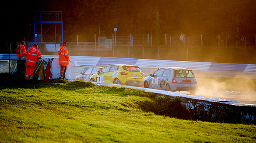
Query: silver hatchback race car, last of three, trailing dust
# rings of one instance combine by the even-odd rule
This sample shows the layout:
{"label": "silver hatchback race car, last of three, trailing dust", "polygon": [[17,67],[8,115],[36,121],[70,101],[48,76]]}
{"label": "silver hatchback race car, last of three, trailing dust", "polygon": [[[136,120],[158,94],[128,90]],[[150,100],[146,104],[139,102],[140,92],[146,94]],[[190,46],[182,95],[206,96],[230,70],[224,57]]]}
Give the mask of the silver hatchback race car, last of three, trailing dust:
{"label": "silver hatchback race car, last of three, trailing dust", "polygon": [[145,88],[168,91],[198,91],[197,79],[192,70],[182,67],[163,67],[144,79]]}

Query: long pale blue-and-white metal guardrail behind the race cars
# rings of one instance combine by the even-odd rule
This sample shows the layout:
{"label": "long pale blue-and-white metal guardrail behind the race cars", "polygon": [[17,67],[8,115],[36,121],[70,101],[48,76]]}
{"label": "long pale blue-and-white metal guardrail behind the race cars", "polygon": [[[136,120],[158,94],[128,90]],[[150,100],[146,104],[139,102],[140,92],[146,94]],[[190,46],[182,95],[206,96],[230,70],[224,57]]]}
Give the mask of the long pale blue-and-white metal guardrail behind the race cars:
{"label": "long pale blue-and-white metal guardrail behind the race cars", "polygon": [[[56,55],[42,55],[42,57],[58,58]],[[9,55],[0,54],[0,60],[8,60]],[[11,55],[11,59],[16,59],[16,54]],[[190,62],[174,60],[149,60],[132,59],[117,57],[88,57],[88,56],[70,56],[70,60],[75,60],[82,66],[106,66],[109,64],[132,64],[141,68],[159,68],[159,67],[185,67],[191,70],[203,71],[222,71],[238,73],[256,73],[255,64],[236,64],[236,63],[208,63],[208,62]]]}

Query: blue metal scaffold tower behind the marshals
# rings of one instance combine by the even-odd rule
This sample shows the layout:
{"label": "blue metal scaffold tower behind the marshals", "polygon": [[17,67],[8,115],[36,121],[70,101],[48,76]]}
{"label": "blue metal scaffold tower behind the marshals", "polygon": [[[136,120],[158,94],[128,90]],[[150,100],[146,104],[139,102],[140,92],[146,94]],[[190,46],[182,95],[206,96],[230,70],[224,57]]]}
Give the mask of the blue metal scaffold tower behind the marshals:
{"label": "blue metal scaffold tower behind the marshals", "polygon": [[[51,40],[53,40],[52,37],[50,37],[46,32],[51,29],[51,27],[43,31],[42,26],[43,24],[53,24],[55,26],[55,39],[53,42],[56,42],[56,25],[61,24],[61,33],[62,33],[62,42],[63,42],[63,21],[62,21],[62,11],[36,11],[35,12],[35,22],[34,22],[34,42],[39,42],[39,34],[35,31],[36,23],[40,24],[40,42],[43,41],[43,35],[47,35]],[[53,27],[52,26],[52,27]]]}

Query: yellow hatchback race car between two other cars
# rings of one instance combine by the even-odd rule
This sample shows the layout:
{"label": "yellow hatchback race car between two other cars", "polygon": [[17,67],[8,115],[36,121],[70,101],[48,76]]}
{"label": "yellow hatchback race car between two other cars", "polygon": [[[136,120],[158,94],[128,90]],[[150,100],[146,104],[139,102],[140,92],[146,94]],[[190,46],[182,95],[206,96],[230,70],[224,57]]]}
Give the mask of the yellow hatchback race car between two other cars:
{"label": "yellow hatchback race car between two other cars", "polygon": [[92,74],[90,81],[143,87],[144,78],[144,73],[138,66],[115,64]]}

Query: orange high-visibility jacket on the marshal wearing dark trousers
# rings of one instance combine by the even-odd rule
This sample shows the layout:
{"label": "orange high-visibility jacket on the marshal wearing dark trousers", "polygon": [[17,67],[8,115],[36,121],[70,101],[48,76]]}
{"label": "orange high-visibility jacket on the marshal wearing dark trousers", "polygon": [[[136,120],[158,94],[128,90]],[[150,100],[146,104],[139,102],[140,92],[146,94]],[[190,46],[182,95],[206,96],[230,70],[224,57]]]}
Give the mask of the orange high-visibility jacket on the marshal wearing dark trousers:
{"label": "orange high-visibility jacket on the marshal wearing dark trousers", "polygon": [[69,63],[69,56],[67,53],[67,48],[65,46],[60,46],[58,50],[59,54],[59,65],[60,66],[67,66]]}

